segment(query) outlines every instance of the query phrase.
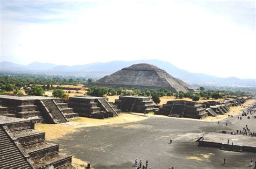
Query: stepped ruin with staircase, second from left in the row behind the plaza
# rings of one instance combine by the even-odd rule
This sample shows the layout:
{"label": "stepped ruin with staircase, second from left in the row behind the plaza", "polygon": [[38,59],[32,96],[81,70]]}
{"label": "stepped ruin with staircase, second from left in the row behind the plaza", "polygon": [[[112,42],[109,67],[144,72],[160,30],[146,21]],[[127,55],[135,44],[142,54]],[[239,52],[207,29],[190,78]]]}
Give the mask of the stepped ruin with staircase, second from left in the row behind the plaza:
{"label": "stepped ruin with staircase, second from left in the row behind the plaza", "polygon": [[106,97],[74,96],[69,98],[68,105],[82,117],[104,119],[120,113],[117,106]]}

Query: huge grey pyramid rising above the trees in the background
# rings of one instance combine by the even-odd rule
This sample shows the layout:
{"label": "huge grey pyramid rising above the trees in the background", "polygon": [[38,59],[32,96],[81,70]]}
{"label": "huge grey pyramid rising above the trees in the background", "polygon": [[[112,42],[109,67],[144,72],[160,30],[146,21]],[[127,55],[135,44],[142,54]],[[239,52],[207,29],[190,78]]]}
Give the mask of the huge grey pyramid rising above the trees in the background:
{"label": "huge grey pyramid rising above the trees in the background", "polygon": [[150,64],[136,64],[105,76],[94,83],[97,86],[113,88],[159,89],[167,88],[174,93],[194,92],[195,89],[184,81],[173,78],[163,69]]}

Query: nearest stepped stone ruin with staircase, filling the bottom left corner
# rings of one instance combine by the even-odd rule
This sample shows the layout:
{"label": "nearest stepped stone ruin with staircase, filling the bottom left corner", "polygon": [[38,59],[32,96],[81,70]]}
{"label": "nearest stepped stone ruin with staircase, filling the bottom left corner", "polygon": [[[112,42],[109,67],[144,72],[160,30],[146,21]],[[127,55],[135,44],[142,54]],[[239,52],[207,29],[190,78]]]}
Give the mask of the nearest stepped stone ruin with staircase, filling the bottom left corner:
{"label": "nearest stepped stone ruin with staircase, filling the bottom left corner", "polygon": [[72,168],[72,156],[45,142],[28,119],[0,116],[0,168]]}

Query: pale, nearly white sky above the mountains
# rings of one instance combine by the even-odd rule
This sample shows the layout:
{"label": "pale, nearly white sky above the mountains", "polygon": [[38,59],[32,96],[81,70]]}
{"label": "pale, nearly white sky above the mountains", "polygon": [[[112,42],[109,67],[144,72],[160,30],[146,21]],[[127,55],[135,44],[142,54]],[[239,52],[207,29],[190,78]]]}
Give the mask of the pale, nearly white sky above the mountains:
{"label": "pale, nearly white sky above the mountains", "polygon": [[255,1],[0,0],[1,58],[28,65],[160,59],[256,79]]}

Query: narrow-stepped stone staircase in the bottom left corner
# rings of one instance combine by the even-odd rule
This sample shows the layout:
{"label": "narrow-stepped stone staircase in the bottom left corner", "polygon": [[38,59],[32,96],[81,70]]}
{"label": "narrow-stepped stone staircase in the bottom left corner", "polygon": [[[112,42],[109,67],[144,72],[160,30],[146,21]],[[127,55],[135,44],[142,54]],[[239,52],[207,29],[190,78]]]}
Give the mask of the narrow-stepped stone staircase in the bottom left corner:
{"label": "narrow-stepped stone staircase in the bottom left corner", "polygon": [[17,145],[0,126],[0,168],[31,168]]}

